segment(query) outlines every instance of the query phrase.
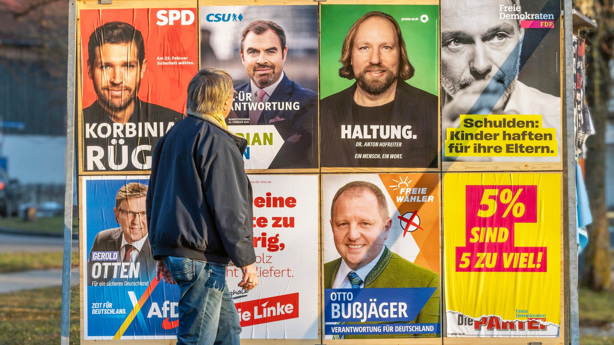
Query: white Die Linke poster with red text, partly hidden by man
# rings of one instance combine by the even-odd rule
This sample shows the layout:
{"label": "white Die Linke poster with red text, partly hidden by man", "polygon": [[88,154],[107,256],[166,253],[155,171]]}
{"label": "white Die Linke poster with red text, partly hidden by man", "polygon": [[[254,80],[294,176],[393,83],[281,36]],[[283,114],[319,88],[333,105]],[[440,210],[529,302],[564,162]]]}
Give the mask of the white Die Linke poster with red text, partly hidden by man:
{"label": "white Die Linke poster with red text, partly hidden by man", "polygon": [[242,339],[318,338],[317,175],[249,175],[254,191],[254,249],[258,286],[237,287],[229,266]]}

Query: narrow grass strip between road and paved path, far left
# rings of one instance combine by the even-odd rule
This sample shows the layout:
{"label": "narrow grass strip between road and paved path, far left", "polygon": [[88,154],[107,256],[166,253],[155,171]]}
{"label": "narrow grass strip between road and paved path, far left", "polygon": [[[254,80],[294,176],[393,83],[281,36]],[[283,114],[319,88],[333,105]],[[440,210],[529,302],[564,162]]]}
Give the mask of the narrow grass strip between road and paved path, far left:
{"label": "narrow grass strip between road and paved path, far left", "polygon": [[[28,269],[62,268],[62,252],[9,252],[0,253],[0,273]],[[79,253],[72,252],[72,267],[79,267]],[[0,332],[0,334],[2,334]]]}

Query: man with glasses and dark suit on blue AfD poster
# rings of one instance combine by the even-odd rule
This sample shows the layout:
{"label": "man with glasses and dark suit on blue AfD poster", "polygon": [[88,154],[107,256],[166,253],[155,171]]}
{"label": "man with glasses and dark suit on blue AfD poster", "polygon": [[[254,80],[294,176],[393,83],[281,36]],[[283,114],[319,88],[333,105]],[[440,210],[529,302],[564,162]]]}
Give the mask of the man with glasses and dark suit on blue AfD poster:
{"label": "man with glasses and dark suit on blue AfD poster", "polygon": [[[88,259],[88,285],[122,279],[122,266],[138,271],[138,277],[132,274],[131,278],[151,281],[155,262],[147,240],[146,196],[147,186],[138,182],[123,185],[117,191],[113,212],[120,226],[96,235]],[[96,252],[109,256],[104,257]],[[95,268],[96,263],[100,265]],[[130,265],[124,265],[126,263]],[[130,269],[124,273],[130,276]]]}

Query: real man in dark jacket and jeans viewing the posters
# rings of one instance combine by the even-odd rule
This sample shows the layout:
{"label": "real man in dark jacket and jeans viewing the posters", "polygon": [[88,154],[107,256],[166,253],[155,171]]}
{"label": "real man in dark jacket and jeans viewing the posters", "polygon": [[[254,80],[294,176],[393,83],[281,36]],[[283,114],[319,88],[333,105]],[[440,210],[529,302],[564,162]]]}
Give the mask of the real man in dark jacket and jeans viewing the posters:
{"label": "real man in dark jacket and jeans viewing the posters", "polygon": [[147,223],[157,273],[179,284],[177,344],[239,344],[239,314],[226,268],[241,268],[238,286],[258,285],[252,234],[247,141],[228,131],[233,103],[228,72],[205,68],[190,80],[188,115],[153,152]]}

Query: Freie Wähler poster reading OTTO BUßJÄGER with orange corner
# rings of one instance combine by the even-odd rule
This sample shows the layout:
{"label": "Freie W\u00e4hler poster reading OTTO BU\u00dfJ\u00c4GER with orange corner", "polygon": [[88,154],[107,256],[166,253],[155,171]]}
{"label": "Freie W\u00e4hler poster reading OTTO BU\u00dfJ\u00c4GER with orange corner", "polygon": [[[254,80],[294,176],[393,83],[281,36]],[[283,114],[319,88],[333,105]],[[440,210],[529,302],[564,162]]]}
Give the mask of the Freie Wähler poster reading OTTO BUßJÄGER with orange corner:
{"label": "Freie W\u00e4hler poster reading OTTO BU\u00dfJ\u00c4GER with orange corner", "polygon": [[438,174],[324,175],[322,190],[324,338],[440,336]]}

